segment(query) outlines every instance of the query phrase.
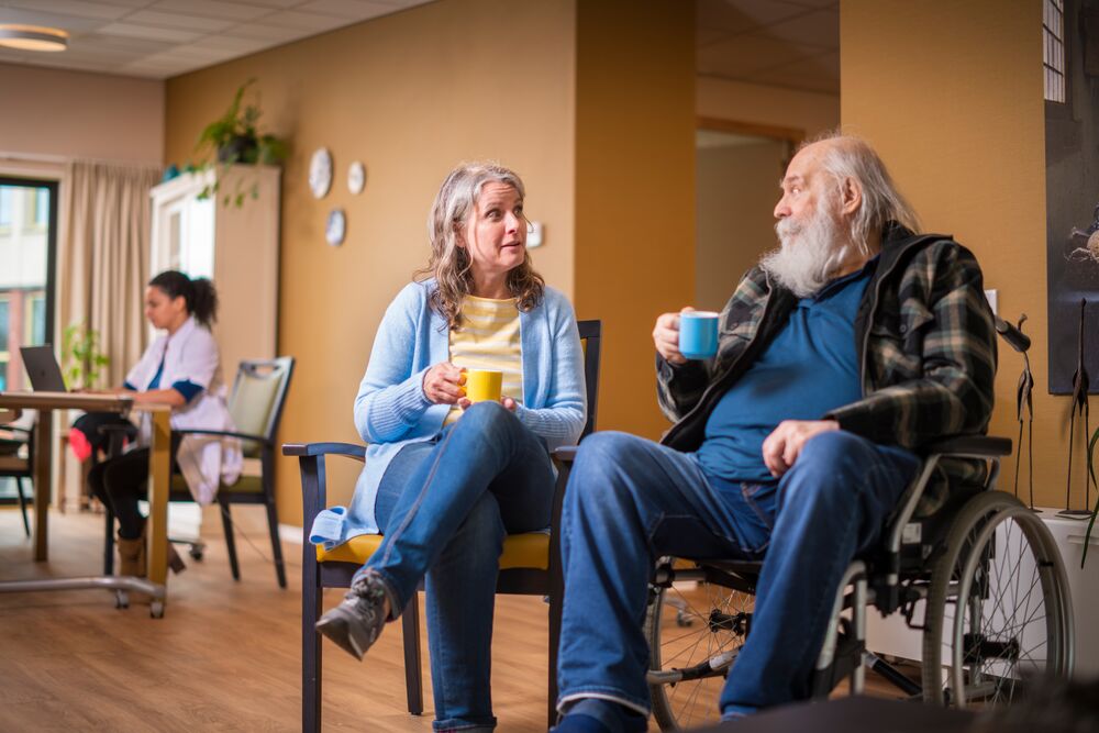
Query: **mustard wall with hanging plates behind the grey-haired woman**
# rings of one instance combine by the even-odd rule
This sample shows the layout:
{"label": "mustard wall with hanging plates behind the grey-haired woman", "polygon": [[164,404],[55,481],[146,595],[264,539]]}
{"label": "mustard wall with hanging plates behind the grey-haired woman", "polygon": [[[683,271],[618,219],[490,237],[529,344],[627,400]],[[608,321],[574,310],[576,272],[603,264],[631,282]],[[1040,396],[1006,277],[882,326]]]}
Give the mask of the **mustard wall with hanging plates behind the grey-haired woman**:
{"label": "mustard wall with hanging plates behind the grey-haired woman", "polygon": [[[279,352],[298,358],[280,441],[354,441],[352,402],[386,306],[425,263],[425,219],[443,176],[495,158],[528,185],[545,223],[533,252],[571,296],[575,0],[445,0],[171,79],[165,160],[184,162],[202,126],[256,77],[263,122],[292,141],[282,184]],[[312,151],[332,152],[332,192],[308,191]],[[366,190],[346,188],[363,160]],[[347,240],[324,242],[347,212]],[[646,399],[648,396],[646,396]],[[333,460],[330,502],[356,466]],[[278,465],[279,514],[299,522],[296,465]]]}

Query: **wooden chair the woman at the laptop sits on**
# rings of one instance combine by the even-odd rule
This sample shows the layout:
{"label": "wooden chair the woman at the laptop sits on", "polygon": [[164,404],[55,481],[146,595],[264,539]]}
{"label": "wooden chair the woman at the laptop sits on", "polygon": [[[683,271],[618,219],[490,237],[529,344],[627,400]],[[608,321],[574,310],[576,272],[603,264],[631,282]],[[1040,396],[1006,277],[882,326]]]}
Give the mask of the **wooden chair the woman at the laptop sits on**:
{"label": "wooden chair the woman at the laptop sits on", "polygon": [[[217,502],[221,509],[221,523],[225,532],[229,549],[229,566],[234,580],[241,579],[241,567],[236,560],[236,543],[233,537],[231,504],[264,504],[267,508],[267,529],[271,538],[275,559],[275,575],[279,588],[286,588],[286,567],[282,562],[282,544],[278,537],[278,511],[275,506],[275,434],[282,419],[282,407],[290,388],[293,374],[293,357],[280,356],[275,359],[241,362],[229,397],[229,414],[233,418],[235,431],[218,430],[173,430],[177,435],[220,435],[241,438],[245,458],[258,458],[260,473],[242,475],[235,484],[222,484],[218,488]],[[180,474],[171,475],[169,501],[193,501],[187,481]],[[107,560],[113,557],[114,518],[107,517]],[[177,541],[191,545],[191,556],[202,557],[200,542]]]}

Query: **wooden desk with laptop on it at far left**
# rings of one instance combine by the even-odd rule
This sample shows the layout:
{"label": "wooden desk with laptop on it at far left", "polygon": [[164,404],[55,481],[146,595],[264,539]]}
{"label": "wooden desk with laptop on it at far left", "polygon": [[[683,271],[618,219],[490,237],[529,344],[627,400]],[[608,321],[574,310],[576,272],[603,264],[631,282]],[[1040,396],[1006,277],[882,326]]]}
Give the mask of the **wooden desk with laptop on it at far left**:
{"label": "wooden desk with laptop on it at far left", "polygon": [[131,411],[147,412],[152,418],[153,434],[148,462],[148,578],[91,576],[85,578],[54,578],[49,580],[15,580],[0,582],[0,592],[23,590],[70,590],[77,588],[109,588],[140,590],[153,596],[152,614],[164,613],[168,578],[168,488],[171,479],[171,427],[168,419],[171,408],[166,404],[137,404],[124,395],[86,395],[81,392],[0,392],[0,410],[37,410],[34,459],[34,559],[49,557],[49,496],[53,476],[53,411],[84,410],[85,412]]}

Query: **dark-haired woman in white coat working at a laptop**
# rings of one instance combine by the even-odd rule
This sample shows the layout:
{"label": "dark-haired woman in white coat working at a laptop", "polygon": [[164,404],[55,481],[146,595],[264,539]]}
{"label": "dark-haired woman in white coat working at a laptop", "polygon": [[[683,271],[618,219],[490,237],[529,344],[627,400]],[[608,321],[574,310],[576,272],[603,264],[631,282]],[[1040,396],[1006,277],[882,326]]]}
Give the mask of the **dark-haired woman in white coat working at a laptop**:
{"label": "dark-haired woman in white coat working at a laptop", "polygon": [[[126,375],[119,393],[132,395],[135,402],[157,402],[171,407],[173,430],[234,430],[225,407],[218,344],[210,333],[217,318],[218,295],[206,278],[191,280],[168,270],[154,277],[145,292],[145,318],[158,336],[137,365]],[[119,574],[145,575],[145,518],[137,501],[145,498],[148,477],[149,421],[142,418],[137,447],[93,467],[88,475],[92,493],[111,508],[119,520]],[[232,484],[241,473],[241,449],[236,440],[173,435],[173,468],[184,475],[195,500],[210,503],[218,486]],[[175,571],[182,560],[168,546]]]}

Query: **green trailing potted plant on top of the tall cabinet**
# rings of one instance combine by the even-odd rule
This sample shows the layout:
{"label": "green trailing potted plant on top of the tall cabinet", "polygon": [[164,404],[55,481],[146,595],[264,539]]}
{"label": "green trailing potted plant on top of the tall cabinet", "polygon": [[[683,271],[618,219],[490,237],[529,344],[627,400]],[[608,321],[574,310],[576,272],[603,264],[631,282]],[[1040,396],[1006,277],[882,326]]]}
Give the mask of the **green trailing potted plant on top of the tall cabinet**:
{"label": "green trailing potted plant on top of the tall cabinet", "polygon": [[[255,81],[253,78],[241,85],[225,112],[202,130],[195,146],[195,152],[201,160],[200,169],[214,165],[222,170],[236,164],[277,165],[286,157],[285,141],[270,133],[259,132],[259,118],[263,112],[259,109],[258,96],[255,101],[245,101],[245,95]],[[219,189],[219,181],[215,180],[202,190],[200,198],[217,193]],[[251,193],[252,198],[258,197],[257,182],[252,184]],[[229,206],[232,202],[241,207],[244,204],[244,182],[238,181],[232,193],[222,197],[222,203]]]}

